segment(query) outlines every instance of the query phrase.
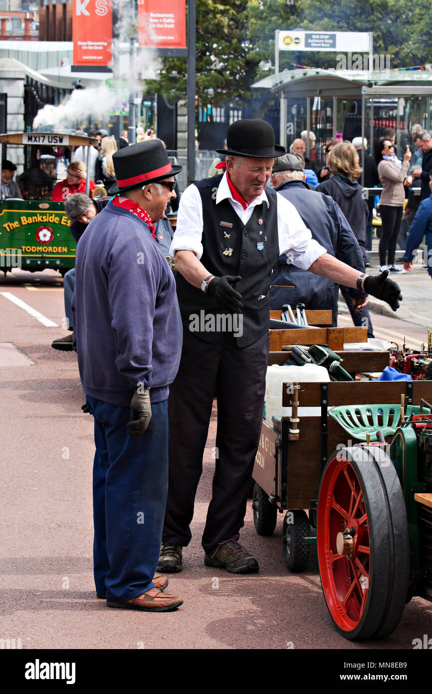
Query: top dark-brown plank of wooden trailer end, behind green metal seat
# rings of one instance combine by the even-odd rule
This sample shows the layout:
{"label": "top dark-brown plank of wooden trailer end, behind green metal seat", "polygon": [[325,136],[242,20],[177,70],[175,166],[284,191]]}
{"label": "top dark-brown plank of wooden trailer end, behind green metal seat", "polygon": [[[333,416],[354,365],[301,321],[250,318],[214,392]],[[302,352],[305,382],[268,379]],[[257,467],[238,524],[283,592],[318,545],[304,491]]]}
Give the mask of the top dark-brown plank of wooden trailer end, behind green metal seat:
{"label": "top dark-brown plank of wooden trailer end, behind green metal seat", "polygon": [[[327,384],[327,406],[368,405],[395,403],[406,393],[406,381],[352,381]],[[282,405],[290,407],[291,395],[282,385]],[[420,398],[432,401],[432,381],[413,381],[413,404],[420,405]],[[299,391],[299,407],[320,407],[320,383],[302,383]]]}

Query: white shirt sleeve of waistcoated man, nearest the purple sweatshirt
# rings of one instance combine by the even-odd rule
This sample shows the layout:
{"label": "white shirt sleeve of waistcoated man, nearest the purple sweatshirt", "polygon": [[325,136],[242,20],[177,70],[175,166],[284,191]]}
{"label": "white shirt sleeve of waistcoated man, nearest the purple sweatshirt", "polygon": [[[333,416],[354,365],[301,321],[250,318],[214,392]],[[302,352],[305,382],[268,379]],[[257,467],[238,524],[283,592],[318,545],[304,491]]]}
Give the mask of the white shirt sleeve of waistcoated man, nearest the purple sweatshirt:
{"label": "white shirt sleeve of waistcoated man, nearest the purple sweatshirt", "polygon": [[202,256],[202,200],[196,185],[189,185],[180,198],[177,212],[177,227],[174,232],[169,255],[175,251],[193,251],[198,260]]}

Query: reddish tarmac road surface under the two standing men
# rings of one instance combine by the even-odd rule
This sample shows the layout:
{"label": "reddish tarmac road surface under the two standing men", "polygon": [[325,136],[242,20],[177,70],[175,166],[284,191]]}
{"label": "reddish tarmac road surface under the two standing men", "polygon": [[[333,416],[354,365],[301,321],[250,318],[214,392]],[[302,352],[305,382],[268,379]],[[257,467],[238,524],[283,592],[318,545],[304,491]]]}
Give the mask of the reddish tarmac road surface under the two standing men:
{"label": "reddish tarmac road surface under the two standing men", "polygon": [[[420,269],[399,280],[409,318],[417,298],[430,296],[431,280]],[[51,341],[67,331],[43,325],[3,292],[58,326],[64,314],[62,282],[54,271],[14,271],[0,278],[0,343],[12,343],[26,355],[23,364],[0,366],[0,638],[20,638],[28,649],[344,651],[411,650],[413,638],[432,635],[432,604],[414,598],[386,640],[352,643],[339,636],[325,607],[318,571],[295,575],[286,569],[282,514],[275,534],[260,537],[250,502],[241,542],[259,560],[259,573],[236,576],[205,567],[200,533],[211,493],[216,412],[193,539],[184,550],[183,572],[169,577],[170,589],[182,595],[184,604],[165,614],[108,609],[96,598],[92,577],[93,425],[80,409],[84,397],[76,355],[51,349]],[[407,341],[411,335],[425,341],[432,312],[429,298],[424,303],[429,310],[420,314],[423,324],[374,314],[377,337],[382,330],[406,335]],[[348,318],[341,316],[341,324],[349,324]]]}

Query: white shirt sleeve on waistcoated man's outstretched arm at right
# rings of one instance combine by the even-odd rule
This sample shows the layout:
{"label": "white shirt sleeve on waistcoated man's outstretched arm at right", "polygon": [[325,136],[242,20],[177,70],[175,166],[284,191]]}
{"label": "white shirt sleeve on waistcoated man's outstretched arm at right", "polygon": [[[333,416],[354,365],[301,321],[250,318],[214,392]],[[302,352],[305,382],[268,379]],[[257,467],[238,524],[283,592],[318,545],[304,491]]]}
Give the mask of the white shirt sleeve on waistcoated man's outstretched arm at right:
{"label": "white shirt sleeve on waistcoated man's outstretched arm at right", "polygon": [[277,230],[279,234],[279,255],[286,253],[288,260],[302,270],[309,270],[311,264],[327,253],[324,246],[312,238],[300,214],[283,195],[277,193]]}

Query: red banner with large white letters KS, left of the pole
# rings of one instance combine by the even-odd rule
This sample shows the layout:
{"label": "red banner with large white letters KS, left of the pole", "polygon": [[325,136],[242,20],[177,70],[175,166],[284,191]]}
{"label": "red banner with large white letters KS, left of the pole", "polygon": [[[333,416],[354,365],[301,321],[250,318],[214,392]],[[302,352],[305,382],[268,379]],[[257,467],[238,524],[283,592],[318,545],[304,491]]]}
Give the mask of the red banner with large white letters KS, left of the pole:
{"label": "red banner with large white letters KS, left of the pole", "polygon": [[112,0],[74,0],[74,65],[110,65]]}

